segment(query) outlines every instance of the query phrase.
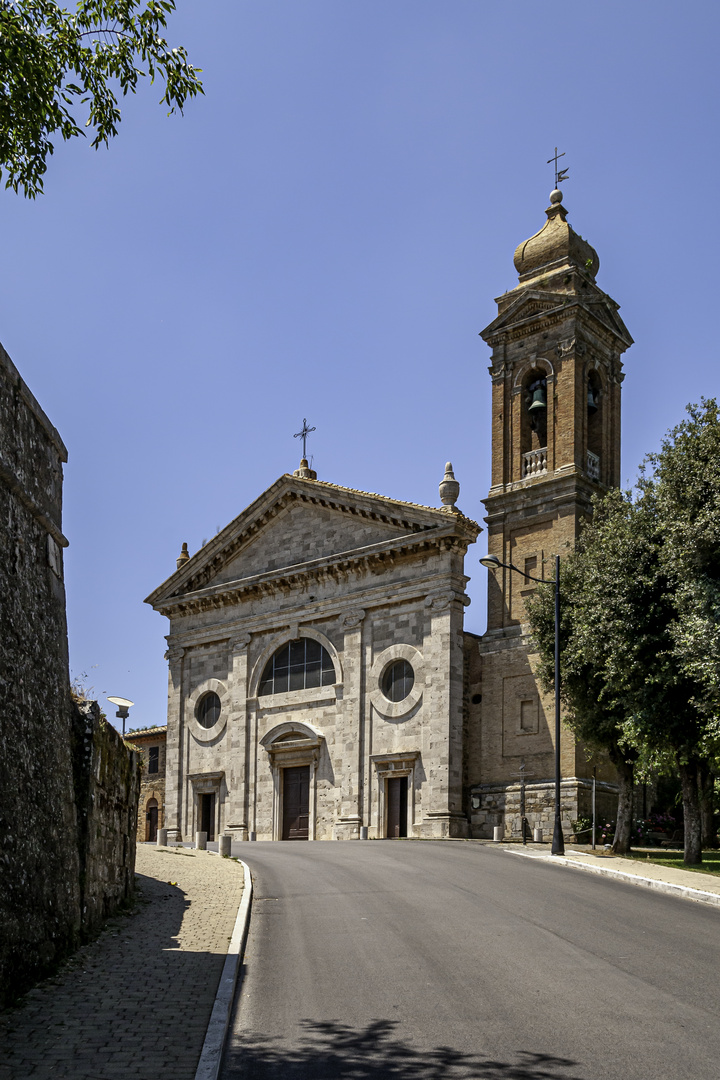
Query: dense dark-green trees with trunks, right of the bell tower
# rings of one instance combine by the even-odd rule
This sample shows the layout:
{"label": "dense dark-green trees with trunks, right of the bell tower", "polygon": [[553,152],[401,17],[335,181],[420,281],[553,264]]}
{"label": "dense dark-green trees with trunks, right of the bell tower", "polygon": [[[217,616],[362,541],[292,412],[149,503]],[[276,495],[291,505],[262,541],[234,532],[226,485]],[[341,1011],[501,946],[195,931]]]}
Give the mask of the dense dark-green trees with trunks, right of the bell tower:
{"label": "dense dark-green trees with trunks, right of the bell tower", "polygon": [[[693,863],[702,859],[698,775],[715,762],[719,734],[720,415],[715,401],[688,411],[647,459],[635,492],[596,499],[562,561],[560,672],[567,723],[608,751],[621,795],[635,761],[673,762]],[[551,590],[541,588],[529,619],[545,683],[551,610]],[[621,810],[615,847],[626,850],[622,797]]]}

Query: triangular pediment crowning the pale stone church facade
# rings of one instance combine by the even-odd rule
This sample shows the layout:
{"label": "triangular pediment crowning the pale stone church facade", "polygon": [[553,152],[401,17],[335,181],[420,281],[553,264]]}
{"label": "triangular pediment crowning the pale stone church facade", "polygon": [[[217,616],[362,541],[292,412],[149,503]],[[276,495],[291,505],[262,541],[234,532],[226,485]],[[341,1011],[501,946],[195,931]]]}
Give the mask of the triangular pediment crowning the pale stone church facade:
{"label": "triangular pediment crowning the pale stone church facade", "polygon": [[323,562],[392,551],[426,534],[467,534],[478,526],[457,512],[281,476],[221,532],[148,596],[154,607],[182,597],[276,579]]}

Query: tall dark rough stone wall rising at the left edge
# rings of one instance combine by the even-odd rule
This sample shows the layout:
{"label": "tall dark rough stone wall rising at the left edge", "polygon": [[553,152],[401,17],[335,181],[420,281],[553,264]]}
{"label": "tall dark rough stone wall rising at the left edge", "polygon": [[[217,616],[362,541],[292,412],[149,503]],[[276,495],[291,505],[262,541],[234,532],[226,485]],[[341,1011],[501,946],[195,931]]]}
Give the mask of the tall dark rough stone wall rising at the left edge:
{"label": "tall dark rough stone wall rising at the left edge", "polygon": [[[66,460],[0,346],[0,1008],[81,940],[99,873],[83,876],[74,800],[84,759],[73,759],[68,673]],[[92,768],[95,752],[85,757]],[[97,811],[89,821],[97,827]]]}

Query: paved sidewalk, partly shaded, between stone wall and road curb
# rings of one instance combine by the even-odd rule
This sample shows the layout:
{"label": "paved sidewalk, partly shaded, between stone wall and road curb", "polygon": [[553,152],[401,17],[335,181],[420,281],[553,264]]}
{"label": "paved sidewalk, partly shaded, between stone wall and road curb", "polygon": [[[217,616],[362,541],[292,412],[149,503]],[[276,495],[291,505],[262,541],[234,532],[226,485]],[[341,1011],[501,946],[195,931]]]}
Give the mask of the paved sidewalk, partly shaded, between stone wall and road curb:
{"label": "paved sidewalk, partly shaded, between stone wall and road curb", "polygon": [[138,845],[136,873],[135,913],[0,1013],[0,1080],[193,1080],[243,868]]}

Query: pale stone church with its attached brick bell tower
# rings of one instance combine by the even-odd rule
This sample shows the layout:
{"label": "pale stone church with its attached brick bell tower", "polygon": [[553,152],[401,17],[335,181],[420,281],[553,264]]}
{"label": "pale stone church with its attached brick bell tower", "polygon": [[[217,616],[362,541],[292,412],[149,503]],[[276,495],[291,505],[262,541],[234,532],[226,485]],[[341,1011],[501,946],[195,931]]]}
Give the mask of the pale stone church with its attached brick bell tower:
{"label": "pale stone church with its attached brick bell tower", "polygon": [[[235,839],[552,832],[553,700],[524,624],[533,583],[620,482],[621,357],[631,338],[559,191],[515,252],[492,350],[488,629],[463,629],[480,527],[439,508],[281,476],[147,603],[168,617],[165,825]],[[485,571],[483,571],[485,572]],[[562,823],[612,810],[613,773],[563,730]]]}

